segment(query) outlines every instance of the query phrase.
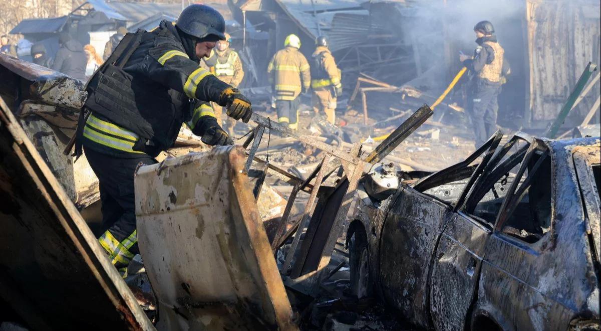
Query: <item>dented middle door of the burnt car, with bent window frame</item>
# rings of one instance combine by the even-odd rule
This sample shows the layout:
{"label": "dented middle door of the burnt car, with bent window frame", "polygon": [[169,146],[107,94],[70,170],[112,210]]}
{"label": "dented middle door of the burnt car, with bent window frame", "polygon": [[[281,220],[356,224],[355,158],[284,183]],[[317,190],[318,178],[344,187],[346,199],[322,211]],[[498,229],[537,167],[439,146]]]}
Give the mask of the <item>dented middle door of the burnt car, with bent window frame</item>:
{"label": "dented middle door of the burnt car, with bent window frame", "polygon": [[[499,137],[499,141],[500,141]],[[492,232],[493,220],[465,212],[466,205],[478,194],[478,200],[498,202],[511,179],[502,179],[516,160],[523,156],[527,146],[509,156],[508,152],[520,137],[513,137],[498,151],[498,141],[483,158],[472,174],[462,196],[454,205],[453,213],[445,226],[436,247],[432,264],[430,309],[437,330],[462,330],[474,299],[486,240]],[[493,153],[497,152],[493,157]],[[513,157],[517,154],[517,157]],[[483,199],[484,198],[484,199]]]}

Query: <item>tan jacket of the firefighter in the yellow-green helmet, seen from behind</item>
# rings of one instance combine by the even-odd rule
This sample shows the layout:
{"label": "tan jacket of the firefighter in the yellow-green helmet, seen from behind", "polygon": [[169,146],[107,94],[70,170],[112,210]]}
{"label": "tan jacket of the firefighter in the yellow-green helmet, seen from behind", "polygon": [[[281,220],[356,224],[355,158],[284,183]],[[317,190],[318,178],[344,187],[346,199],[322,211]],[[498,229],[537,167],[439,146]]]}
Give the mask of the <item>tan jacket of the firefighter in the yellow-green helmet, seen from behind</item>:
{"label": "tan jacket of the firefighter in the yellow-green helmet, seen from behind", "polygon": [[276,100],[294,100],[311,83],[309,63],[297,48],[287,46],[273,55],[267,66],[267,78]]}

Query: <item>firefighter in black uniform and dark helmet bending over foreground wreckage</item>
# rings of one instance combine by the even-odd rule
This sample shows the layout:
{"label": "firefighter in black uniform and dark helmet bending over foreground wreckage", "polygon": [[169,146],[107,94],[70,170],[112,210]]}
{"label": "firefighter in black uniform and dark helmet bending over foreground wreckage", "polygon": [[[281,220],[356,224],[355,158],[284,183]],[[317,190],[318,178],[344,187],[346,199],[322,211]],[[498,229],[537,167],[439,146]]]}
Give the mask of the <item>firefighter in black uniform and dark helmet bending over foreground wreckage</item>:
{"label": "firefighter in black uniform and dark helmet bending over foreground wreckage", "polygon": [[218,11],[190,5],[175,25],[163,20],[151,32],[127,34],[88,83],[76,154],[83,146],[99,179],[106,229],[99,241],[120,271],[139,252],[136,167],[156,163],[154,157],[172,146],[183,123],[207,144],[230,144],[208,102],[227,107],[236,120],[251,117],[245,96],[199,66],[225,40],[224,32]]}

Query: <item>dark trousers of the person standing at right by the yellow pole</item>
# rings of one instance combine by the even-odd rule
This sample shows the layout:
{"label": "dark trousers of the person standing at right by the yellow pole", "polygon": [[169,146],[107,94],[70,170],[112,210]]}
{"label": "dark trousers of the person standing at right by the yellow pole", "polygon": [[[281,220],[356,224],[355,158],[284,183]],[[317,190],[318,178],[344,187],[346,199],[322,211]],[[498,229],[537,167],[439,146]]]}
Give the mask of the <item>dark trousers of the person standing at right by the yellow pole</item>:
{"label": "dark trousers of the person standing at right by the yellow pole", "polygon": [[478,79],[472,91],[472,125],[476,148],[486,143],[486,140],[496,131],[496,115],[499,110],[497,99],[501,84]]}

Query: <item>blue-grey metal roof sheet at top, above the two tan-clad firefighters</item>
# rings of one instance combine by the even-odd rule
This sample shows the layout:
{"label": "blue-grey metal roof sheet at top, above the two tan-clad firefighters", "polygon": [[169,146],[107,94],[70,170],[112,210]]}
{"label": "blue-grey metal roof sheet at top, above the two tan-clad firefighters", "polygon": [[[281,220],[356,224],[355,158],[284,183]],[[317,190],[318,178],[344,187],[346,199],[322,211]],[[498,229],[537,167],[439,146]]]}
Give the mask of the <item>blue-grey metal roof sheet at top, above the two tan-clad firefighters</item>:
{"label": "blue-grey metal roof sheet at top, above the two tan-clad firefighters", "polygon": [[367,10],[361,7],[365,2],[362,0],[275,0],[275,2],[312,37],[329,31],[336,13],[367,14]]}

